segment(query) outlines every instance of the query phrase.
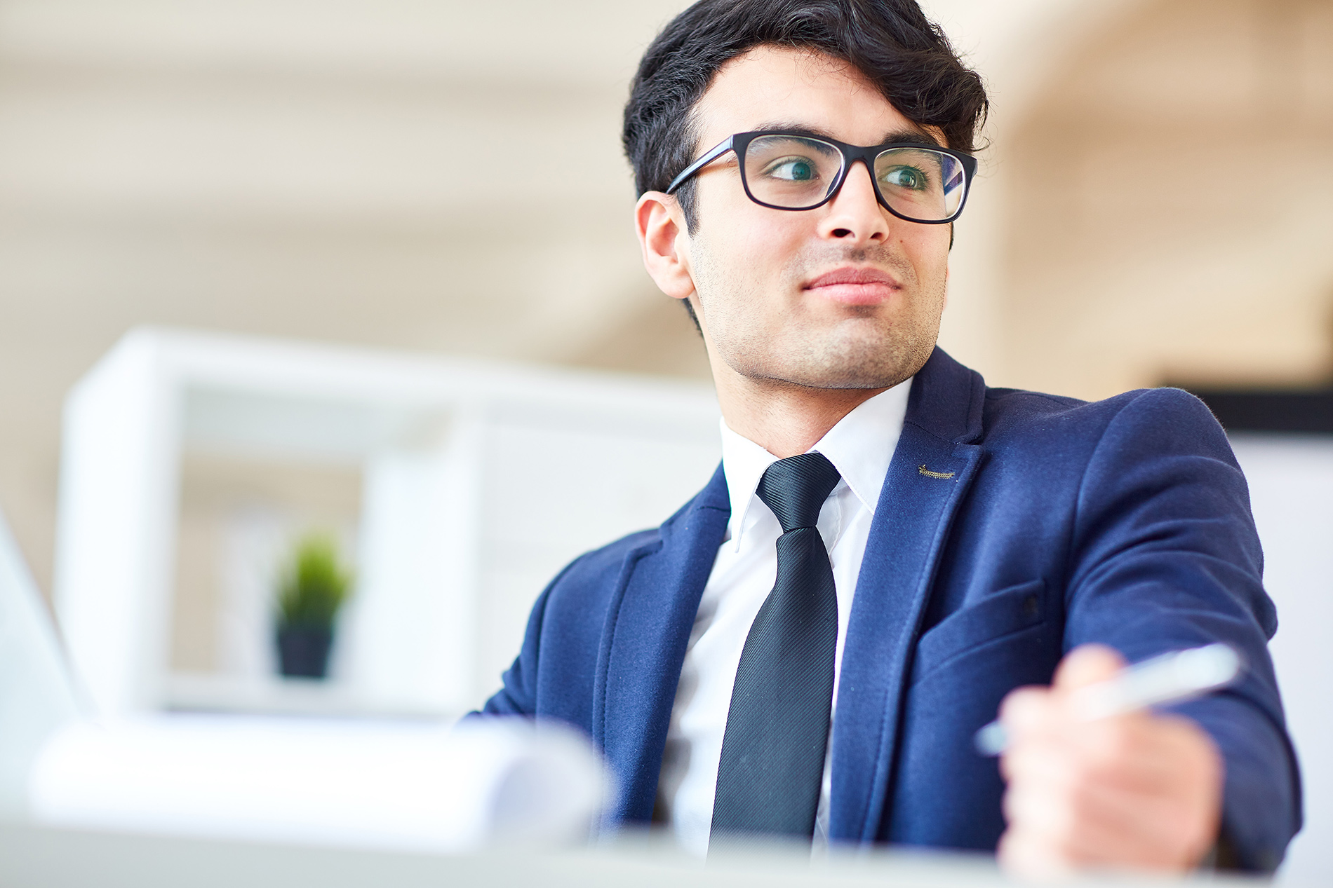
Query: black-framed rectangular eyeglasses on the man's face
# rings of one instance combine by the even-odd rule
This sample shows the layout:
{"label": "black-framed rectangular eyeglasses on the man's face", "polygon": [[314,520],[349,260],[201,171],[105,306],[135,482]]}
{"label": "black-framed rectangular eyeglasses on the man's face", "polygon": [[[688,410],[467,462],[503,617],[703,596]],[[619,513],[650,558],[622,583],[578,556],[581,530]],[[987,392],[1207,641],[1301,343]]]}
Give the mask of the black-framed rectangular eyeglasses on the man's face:
{"label": "black-framed rectangular eyeglasses on the man's face", "polygon": [[806,210],[833,200],[856,161],[872,172],[880,204],[909,222],[942,225],[958,218],[977,172],[972,154],[920,144],[870,148],[792,132],[736,133],[672,180],[673,193],[690,176],[734,152],[745,194],[760,206]]}

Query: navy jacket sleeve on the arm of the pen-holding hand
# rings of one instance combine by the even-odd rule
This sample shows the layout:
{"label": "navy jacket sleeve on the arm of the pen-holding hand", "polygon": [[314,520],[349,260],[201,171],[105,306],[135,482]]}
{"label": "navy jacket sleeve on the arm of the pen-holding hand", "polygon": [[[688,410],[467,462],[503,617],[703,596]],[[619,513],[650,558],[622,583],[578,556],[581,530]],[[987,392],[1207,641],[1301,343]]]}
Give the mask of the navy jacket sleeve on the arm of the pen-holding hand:
{"label": "navy jacket sleeve on the arm of the pen-holding hand", "polygon": [[1098,642],[1137,662],[1226,642],[1244,656],[1237,684],[1177,711],[1222,754],[1222,839],[1237,864],[1273,871],[1301,825],[1268,654],[1277,614],[1245,477],[1202,402],[1149,390],[1108,423],[1078,491],[1070,553],[1065,650]]}

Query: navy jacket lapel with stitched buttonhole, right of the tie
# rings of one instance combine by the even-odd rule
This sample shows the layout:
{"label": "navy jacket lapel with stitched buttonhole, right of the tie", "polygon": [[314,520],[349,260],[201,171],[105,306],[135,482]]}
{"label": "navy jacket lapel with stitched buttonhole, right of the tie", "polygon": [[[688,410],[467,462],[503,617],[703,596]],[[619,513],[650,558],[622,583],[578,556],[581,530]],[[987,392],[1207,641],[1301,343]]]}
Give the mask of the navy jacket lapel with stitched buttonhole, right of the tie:
{"label": "navy jacket lapel with stitched buttonhole, right of the tie", "polygon": [[936,349],[912,382],[857,578],[833,723],[829,836],[873,841],[892,770],[904,680],[953,515],[981,458],[985,383]]}

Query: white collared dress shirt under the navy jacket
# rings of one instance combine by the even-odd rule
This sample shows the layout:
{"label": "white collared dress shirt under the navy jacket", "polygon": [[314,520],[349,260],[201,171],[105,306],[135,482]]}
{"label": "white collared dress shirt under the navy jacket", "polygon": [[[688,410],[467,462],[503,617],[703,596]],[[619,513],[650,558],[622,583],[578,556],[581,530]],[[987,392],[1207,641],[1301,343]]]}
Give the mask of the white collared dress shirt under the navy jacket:
{"label": "white collared dress shirt under the navy jacket", "polygon": [[[817,525],[833,564],[837,591],[834,704],[856,578],[861,571],[880,489],[902,434],[910,387],[912,379],[908,379],[865,401],[810,447],[810,451],[828,457],[842,475],[824,501]],[[708,853],[717,763],[722,755],[722,735],[741,648],[750,623],[777,579],[777,538],[782,529],[754,493],[764,471],[776,461],[777,457],[722,422],[722,470],[732,517],[689,635],[666,732],[655,817],[669,825],[686,851],[700,856]],[[824,785],[814,824],[816,847],[828,843],[829,785],[829,759],[825,755]]]}

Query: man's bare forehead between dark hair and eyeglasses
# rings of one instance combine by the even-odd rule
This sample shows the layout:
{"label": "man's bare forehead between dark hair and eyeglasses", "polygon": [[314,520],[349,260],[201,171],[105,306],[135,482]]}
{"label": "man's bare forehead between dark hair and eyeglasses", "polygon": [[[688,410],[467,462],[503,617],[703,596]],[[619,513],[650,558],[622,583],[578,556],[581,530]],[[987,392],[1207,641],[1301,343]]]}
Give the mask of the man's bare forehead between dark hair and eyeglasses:
{"label": "man's bare forehead between dark hair and eyeglasses", "polygon": [[756,47],[729,60],[694,107],[700,148],[782,121],[854,145],[921,132],[853,65],[809,49]]}

